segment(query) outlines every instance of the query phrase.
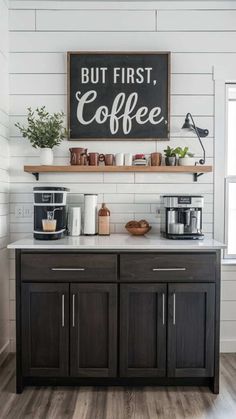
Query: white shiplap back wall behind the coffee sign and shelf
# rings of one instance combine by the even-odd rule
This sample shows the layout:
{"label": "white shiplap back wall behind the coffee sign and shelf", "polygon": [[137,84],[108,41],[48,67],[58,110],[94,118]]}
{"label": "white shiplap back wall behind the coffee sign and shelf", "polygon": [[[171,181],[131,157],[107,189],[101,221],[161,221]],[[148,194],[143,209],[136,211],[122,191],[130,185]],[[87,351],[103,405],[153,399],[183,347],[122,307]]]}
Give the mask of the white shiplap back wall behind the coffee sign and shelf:
{"label": "white shiplap back wall behind the coffee sign and shelf", "polygon": [[[201,149],[194,136],[181,131],[190,111],[199,126],[208,128],[204,140],[207,163],[214,164],[214,84],[213,66],[236,57],[236,10],[233,2],[217,10],[219,2],[10,2],[10,145],[11,145],[11,240],[32,231],[32,218],[15,217],[15,205],[32,204],[35,185],[24,164],[39,162],[38,151],[19,138],[16,121],[25,121],[26,108],[46,105],[49,111],[66,113],[66,51],[171,51],[171,142],[188,144],[196,155]],[[223,2],[220,6],[224,9]],[[184,10],[181,10],[184,9]],[[206,9],[206,10],[204,10]],[[68,163],[70,146],[86,146],[98,152],[163,151],[158,141],[96,142],[65,141],[55,150],[55,163]],[[40,184],[60,184],[70,188],[70,203],[80,203],[84,192],[99,193],[99,201],[111,209],[112,231],[123,232],[132,218],[146,218],[159,231],[157,214],[162,193],[201,193],[205,197],[204,232],[213,235],[213,175],[193,183],[190,175],[168,174],[57,174],[42,175]],[[11,330],[14,347],[14,268],[11,260]],[[231,267],[231,269],[233,269]],[[234,271],[231,278],[234,277]],[[224,273],[225,275],[225,273]],[[227,277],[227,276],[226,276]],[[234,280],[226,283],[226,291]],[[233,288],[232,288],[233,290]],[[236,349],[236,312],[228,319],[232,302],[223,293],[222,348]],[[227,294],[227,295],[226,295]],[[231,294],[233,295],[233,294]],[[236,300],[236,293],[234,293]],[[232,345],[229,345],[229,337]]]}

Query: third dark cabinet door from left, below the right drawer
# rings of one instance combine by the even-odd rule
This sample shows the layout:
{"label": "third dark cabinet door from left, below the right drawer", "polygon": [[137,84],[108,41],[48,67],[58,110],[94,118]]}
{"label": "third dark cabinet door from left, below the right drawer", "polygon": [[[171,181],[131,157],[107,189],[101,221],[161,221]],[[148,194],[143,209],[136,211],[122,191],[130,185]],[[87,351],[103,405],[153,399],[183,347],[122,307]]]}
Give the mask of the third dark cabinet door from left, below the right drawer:
{"label": "third dark cabinet door from left, below the right drawer", "polygon": [[166,375],[165,284],[126,284],[120,292],[120,375]]}

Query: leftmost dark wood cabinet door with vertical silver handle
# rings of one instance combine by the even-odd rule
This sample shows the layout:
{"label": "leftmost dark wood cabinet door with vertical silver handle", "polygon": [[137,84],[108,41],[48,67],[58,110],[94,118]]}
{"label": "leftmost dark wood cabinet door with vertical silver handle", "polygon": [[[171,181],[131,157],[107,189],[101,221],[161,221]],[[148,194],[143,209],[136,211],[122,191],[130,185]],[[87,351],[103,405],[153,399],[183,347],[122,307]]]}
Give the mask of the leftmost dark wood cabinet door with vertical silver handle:
{"label": "leftmost dark wood cabinet door with vertical silver handle", "polygon": [[69,285],[22,284],[25,376],[68,375]]}

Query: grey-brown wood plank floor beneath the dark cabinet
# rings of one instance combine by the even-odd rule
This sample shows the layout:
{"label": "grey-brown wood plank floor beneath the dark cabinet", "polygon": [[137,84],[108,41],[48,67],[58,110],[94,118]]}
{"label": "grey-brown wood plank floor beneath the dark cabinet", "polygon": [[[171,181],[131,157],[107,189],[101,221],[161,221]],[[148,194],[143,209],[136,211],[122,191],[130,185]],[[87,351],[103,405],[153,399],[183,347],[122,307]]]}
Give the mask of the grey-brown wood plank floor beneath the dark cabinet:
{"label": "grey-brown wood plank floor beneath the dark cabinet", "polygon": [[221,392],[197,387],[30,387],[15,391],[15,357],[0,367],[1,419],[235,419],[236,354],[221,355]]}

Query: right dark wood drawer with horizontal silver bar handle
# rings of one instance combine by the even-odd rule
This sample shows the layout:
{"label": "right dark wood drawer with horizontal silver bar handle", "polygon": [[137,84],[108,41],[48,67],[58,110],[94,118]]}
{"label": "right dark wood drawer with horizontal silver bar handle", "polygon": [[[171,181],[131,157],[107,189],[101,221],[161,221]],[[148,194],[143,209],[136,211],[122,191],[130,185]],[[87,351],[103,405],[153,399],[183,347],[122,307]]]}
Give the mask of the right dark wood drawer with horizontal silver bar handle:
{"label": "right dark wood drawer with horizontal silver bar handle", "polygon": [[120,263],[121,281],[215,281],[214,253],[126,254]]}

